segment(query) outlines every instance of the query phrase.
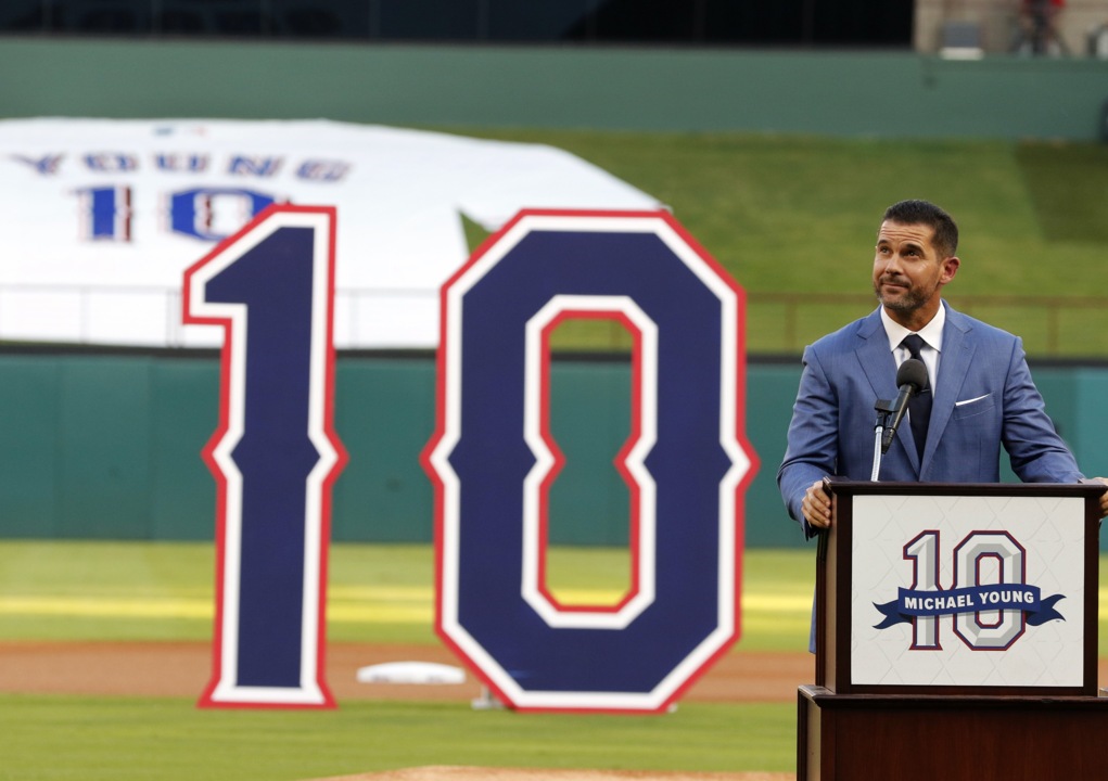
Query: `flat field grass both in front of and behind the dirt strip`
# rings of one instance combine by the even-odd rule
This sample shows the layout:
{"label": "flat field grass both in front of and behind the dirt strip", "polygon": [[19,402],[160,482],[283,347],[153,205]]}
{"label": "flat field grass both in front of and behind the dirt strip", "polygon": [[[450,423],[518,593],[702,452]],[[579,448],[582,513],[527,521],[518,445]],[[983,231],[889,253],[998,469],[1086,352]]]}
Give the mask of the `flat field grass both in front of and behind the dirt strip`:
{"label": "flat field grass both in front of and behind the dirt strip", "polygon": [[[0,542],[0,640],[208,639],[209,544]],[[618,594],[625,551],[556,549],[578,596]],[[438,643],[433,552],[335,545],[330,641]],[[804,647],[807,551],[750,552],[743,648]],[[198,692],[197,692],[198,693]],[[0,695],[0,781],[280,781],[425,764],[790,771],[796,706],[680,703],[658,717],[340,702],[337,711],[198,710],[194,699]]]}

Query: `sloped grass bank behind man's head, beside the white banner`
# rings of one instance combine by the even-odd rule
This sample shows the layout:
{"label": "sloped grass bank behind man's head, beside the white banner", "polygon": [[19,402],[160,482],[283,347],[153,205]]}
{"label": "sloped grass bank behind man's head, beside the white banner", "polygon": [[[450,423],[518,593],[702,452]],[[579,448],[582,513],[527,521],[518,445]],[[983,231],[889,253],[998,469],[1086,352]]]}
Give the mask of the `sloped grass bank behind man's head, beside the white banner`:
{"label": "sloped grass bank behind man's head, beside the white banner", "polygon": [[[747,290],[751,352],[797,352],[873,308],[809,299],[868,294],[880,216],[902,198],[934,201],[958,222],[963,266],[946,289],[955,305],[967,295],[1094,296],[1108,257],[1102,144],[448,130],[558,146],[667,204]],[[471,243],[483,235],[469,228]],[[768,294],[802,306],[796,343]],[[1045,310],[981,315],[1023,336],[1030,354],[1046,352]],[[1064,309],[1059,329],[1060,354],[1108,354],[1102,309]]]}

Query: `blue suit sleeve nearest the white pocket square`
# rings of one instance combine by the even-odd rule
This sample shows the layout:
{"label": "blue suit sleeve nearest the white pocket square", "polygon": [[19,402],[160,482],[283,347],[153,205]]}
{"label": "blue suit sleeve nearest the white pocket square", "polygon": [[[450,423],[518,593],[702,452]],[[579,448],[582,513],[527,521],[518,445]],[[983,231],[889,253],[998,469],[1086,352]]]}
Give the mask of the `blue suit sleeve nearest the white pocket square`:
{"label": "blue suit sleeve nearest the white pocket square", "polygon": [[1074,454],[1046,413],[1046,403],[1032,379],[1018,338],[1004,384],[1001,439],[1012,461],[1012,471],[1025,483],[1076,483],[1084,479]]}

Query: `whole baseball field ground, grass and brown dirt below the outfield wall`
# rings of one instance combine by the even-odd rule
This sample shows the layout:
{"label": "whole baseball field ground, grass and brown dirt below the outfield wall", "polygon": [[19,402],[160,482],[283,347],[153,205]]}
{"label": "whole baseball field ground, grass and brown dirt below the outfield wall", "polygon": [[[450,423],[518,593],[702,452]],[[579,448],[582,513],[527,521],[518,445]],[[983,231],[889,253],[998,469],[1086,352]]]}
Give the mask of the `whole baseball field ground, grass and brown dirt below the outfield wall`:
{"label": "whole baseball field ground, grass and brown dirt below the outfield wall", "polygon": [[[551,582],[565,599],[605,598],[625,556],[557,549]],[[472,675],[358,682],[377,662],[458,660],[433,633],[429,546],[335,545],[326,668],[339,707],[211,710],[195,705],[211,674],[211,545],[6,542],[0,779],[783,781],[797,686],[813,680],[812,582],[809,549],[748,551],[742,637],[673,712],[517,713],[474,707],[488,702]]]}

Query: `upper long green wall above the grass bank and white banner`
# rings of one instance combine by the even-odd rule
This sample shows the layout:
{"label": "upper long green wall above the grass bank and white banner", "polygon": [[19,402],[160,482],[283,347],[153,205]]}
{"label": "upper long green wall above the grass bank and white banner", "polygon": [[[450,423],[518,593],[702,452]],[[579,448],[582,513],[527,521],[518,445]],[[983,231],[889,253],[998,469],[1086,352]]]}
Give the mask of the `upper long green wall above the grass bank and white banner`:
{"label": "upper long green wall above the grass bank and white banner", "polygon": [[0,38],[0,116],[1099,138],[1108,60]]}

